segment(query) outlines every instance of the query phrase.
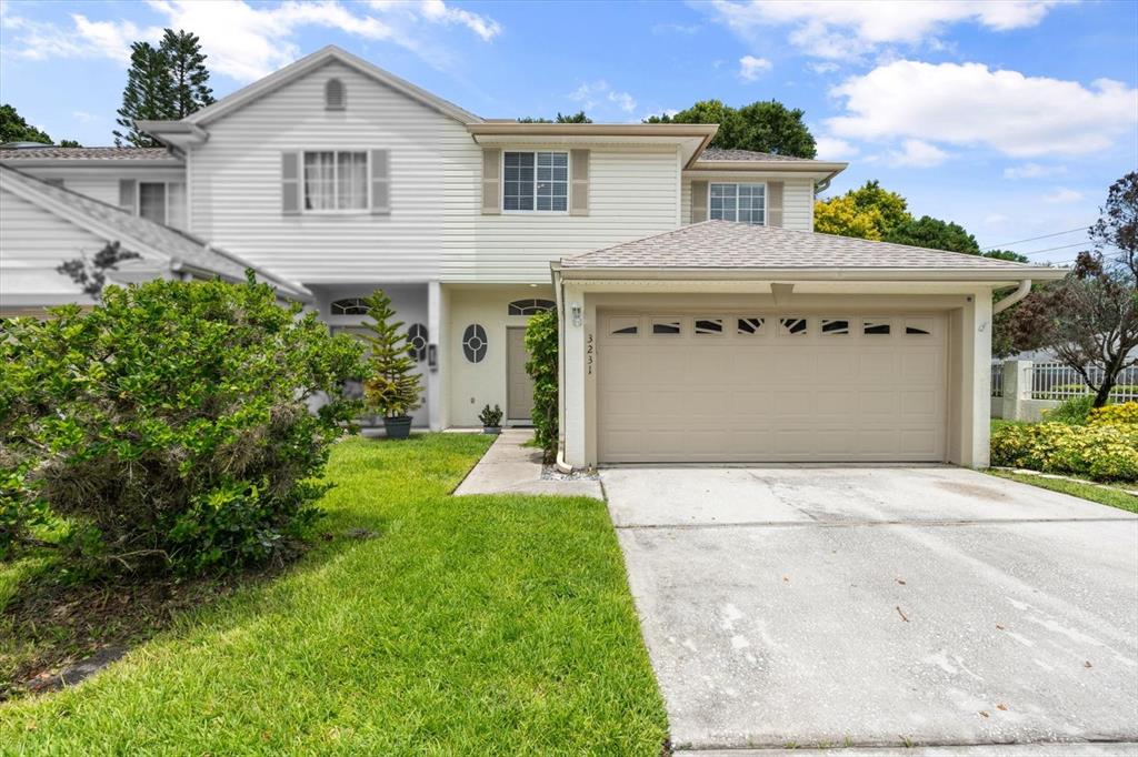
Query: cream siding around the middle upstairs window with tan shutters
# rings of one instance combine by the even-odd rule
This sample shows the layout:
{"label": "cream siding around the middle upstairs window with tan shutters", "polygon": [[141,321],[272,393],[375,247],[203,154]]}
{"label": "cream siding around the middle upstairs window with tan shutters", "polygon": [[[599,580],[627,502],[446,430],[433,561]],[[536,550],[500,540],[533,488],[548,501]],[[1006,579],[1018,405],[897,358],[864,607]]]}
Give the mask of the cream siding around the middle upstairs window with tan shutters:
{"label": "cream siding around the middle upstairs window with tan shutters", "polygon": [[[511,149],[503,145],[503,151]],[[555,144],[517,149],[568,151]],[[444,275],[452,281],[547,282],[551,260],[671,231],[679,200],[678,174],[673,149],[591,147],[587,216],[479,215],[475,267],[448,268]]]}

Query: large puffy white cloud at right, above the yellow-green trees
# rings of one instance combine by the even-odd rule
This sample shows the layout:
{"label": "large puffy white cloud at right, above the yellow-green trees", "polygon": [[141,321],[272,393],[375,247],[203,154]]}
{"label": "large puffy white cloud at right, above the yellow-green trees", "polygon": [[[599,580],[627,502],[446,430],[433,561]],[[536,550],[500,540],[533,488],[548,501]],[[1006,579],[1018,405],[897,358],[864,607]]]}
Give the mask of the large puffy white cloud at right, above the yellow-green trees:
{"label": "large puffy white cloud at right, above the yellow-green trees", "polygon": [[834,88],[848,115],[827,119],[843,139],[915,139],[984,145],[1013,157],[1085,155],[1138,123],[1138,90],[990,70],[982,64],[898,60]]}

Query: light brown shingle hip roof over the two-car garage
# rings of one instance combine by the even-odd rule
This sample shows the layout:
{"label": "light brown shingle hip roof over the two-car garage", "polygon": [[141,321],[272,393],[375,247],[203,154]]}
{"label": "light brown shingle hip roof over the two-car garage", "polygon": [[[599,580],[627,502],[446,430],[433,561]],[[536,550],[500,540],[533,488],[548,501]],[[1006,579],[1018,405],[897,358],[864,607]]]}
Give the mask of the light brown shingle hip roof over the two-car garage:
{"label": "light brown shingle hip roof over the two-car garage", "polygon": [[[562,258],[562,268],[863,268],[1006,271],[1022,276],[1038,266],[963,252],[706,221],[673,232]],[[1050,271],[1050,269],[1044,269]]]}

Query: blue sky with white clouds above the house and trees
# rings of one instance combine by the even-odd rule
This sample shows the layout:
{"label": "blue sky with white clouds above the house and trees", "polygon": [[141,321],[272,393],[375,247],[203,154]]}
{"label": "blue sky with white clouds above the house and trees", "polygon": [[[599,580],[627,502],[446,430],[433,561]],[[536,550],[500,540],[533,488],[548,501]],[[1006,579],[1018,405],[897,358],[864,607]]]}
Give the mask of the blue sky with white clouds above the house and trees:
{"label": "blue sky with white clouds above the house and trees", "polygon": [[[151,0],[0,5],[0,92],[110,143],[130,42],[203,39],[217,95],[335,43],[486,117],[806,110],[831,190],[879,178],[995,246],[1085,227],[1138,167],[1138,2]],[[1081,232],[1015,246],[1070,259]]]}

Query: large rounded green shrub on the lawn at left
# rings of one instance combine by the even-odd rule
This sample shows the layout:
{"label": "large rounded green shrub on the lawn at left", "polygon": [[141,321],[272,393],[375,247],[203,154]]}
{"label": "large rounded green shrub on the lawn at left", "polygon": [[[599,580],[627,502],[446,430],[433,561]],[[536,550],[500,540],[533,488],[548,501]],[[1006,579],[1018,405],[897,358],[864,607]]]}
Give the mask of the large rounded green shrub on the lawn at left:
{"label": "large rounded green shrub on the lawn at left", "polygon": [[0,551],[47,505],[84,572],[191,574],[267,559],[313,517],[358,410],[355,340],[251,280],[112,286],[52,314],[0,338]]}

